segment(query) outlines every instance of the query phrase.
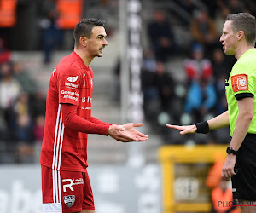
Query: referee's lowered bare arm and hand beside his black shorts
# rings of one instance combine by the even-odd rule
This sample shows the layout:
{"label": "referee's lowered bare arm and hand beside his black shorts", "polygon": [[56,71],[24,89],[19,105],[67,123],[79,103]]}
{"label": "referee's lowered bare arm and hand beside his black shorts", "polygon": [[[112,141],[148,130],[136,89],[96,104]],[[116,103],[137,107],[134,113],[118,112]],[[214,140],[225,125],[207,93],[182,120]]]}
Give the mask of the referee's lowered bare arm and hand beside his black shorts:
{"label": "referee's lowered bare arm and hand beside his black shorts", "polygon": [[[236,128],[234,130],[230,147],[237,151],[241,147],[241,143],[247,135],[247,131],[253,119],[253,98],[247,97],[237,101],[239,113],[236,118]],[[222,169],[222,177],[229,179],[236,175],[234,167],[236,164],[236,155],[228,154]]]}

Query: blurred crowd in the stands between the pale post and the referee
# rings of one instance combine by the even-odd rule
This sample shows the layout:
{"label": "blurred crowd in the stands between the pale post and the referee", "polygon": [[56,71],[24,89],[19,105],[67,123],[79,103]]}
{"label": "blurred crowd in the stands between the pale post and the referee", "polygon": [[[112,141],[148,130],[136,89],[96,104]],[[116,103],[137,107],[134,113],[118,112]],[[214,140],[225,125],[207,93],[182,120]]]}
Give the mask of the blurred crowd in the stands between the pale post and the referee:
{"label": "blurred crowd in the stands between the pale post and the referee", "polygon": [[[167,2],[160,2],[161,8],[154,9],[146,27],[148,46],[144,48],[142,63],[145,118],[166,143],[229,143],[228,128],[180,137],[177,130],[167,129],[166,124],[195,124],[227,110],[225,79],[236,59],[224,55],[219,37],[227,14],[248,12],[255,16],[256,3],[173,1],[181,13],[170,15]],[[174,30],[178,21],[186,33],[177,34]],[[182,61],[182,68],[173,70],[177,59]],[[177,72],[183,72],[182,80],[177,80]]]}

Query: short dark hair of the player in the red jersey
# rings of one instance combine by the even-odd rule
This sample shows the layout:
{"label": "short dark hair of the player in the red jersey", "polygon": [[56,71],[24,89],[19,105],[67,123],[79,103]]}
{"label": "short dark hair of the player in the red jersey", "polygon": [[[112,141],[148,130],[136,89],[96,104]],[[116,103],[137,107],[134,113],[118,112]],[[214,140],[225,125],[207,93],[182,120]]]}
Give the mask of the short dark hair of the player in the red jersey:
{"label": "short dark hair of the player in the red jersey", "polygon": [[105,20],[97,20],[95,18],[87,18],[79,21],[73,30],[75,45],[79,43],[80,37],[90,38],[91,30],[94,26],[104,26]]}

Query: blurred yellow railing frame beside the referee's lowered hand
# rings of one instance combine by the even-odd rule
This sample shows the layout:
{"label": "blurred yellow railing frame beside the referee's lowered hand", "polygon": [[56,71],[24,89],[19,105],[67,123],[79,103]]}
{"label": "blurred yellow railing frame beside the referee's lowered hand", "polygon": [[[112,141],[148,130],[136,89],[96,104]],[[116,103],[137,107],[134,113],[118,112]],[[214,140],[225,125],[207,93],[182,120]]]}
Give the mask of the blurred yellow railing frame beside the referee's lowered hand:
{"label": "blurred yellow railing frame beside the referee's lowered hand", "polygon": [[198,202],[194,199],[177,202],[174,190],[174,184],[177,178],[175,165],[209,164],[210,168],[215,162],[216,156],[219,156],[219,158],[226,157],[226,147],[227,145],[198,145],[194,147],[168,145],[160,147],[158,158],[162,169],[163,213],[174,213],[178,211],[209,212],[211,210],[210,200]]}

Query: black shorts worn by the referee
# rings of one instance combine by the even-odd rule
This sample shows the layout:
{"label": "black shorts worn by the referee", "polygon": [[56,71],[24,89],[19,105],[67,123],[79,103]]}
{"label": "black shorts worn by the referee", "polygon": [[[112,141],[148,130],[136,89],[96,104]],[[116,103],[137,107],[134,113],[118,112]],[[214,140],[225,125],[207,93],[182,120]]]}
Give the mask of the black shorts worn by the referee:
{"label": "black shorts worn by the referee", "polygon": [[247,134],[236,156],[233,199],[256,201],[256,134]]}

